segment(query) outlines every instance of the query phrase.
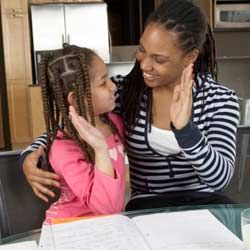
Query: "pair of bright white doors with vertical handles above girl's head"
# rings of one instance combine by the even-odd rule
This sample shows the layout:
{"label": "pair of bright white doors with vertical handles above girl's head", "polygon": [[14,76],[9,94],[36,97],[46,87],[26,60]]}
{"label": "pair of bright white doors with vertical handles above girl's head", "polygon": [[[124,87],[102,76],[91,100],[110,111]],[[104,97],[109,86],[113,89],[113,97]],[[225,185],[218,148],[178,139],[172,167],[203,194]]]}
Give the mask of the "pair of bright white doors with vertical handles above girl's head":
{"label": "pair of bright white doors with vertical handles above girl's head", "polygon": [[91,48],[110,62],[106,3],[32,5],[31,18],[35,51],[66,42]]}

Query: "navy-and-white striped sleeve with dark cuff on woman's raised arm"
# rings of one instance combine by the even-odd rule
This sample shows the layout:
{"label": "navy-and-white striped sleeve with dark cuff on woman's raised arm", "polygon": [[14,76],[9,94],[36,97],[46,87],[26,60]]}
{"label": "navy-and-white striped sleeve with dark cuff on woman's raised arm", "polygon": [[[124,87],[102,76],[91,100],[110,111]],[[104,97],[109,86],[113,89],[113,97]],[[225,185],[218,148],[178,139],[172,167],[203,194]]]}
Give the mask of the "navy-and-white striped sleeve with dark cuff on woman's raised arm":
{"label": "navy-and-white striped sleeve with dark cuff on woman's raised arm", "polygon": [[173,132],[200,180],[213,190],[220,191],[228,185],[234,172],[238,99],[231,91],[214,98],[213,106],[209,108],[214,112],[207,119],[206,133],[203,134],[193,122]]}

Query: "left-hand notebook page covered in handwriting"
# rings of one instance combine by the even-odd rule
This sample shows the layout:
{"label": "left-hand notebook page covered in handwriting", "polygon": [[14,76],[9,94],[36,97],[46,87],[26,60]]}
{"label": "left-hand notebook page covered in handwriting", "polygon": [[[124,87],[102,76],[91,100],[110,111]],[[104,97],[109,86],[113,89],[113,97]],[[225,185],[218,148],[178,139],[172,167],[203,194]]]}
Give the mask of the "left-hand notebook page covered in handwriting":
{"label": "left-hand notebook page covered in handwriting", "polygon": [[149,250],[134,223],[122,215],[52,225],[56,250]]}

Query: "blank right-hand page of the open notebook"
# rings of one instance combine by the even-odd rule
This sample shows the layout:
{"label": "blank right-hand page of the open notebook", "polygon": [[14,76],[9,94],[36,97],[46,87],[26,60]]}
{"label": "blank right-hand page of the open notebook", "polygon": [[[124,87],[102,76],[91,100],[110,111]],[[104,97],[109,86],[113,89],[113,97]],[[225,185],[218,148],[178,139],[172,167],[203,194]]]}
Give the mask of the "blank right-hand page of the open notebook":
{"label": "blank right-hand page of the open notebook", "polygon": [[241,250],[242,241],[208,210],[157,213],[132,219],[153,250]]}

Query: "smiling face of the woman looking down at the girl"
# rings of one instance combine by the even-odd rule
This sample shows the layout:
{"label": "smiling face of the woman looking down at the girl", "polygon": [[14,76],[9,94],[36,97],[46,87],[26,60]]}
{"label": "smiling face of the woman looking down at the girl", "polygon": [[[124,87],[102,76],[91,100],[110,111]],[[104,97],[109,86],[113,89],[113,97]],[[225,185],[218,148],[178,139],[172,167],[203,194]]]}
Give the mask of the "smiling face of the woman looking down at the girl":
{"label": "smiling face of the woman looking down at the girl", "polygon": [[178,84],[188,65],[187,55],[178,46],[177,35],[157,23],[145,28],[136,59],[146,85],[152,88]]}

